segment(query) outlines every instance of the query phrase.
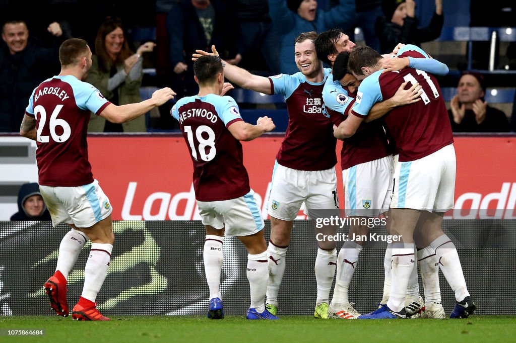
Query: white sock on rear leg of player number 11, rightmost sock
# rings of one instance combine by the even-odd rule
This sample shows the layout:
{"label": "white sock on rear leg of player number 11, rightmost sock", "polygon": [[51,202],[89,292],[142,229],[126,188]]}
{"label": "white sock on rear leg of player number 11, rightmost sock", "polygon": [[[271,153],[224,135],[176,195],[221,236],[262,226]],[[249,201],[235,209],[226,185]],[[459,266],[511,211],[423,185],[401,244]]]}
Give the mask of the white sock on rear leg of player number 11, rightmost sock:
{"label": "white sock on rear leg of player number 11, rightmost sock", "polygon": [[455,292],[455,299],[462,301],[465,297],[469,297],[470,293],[467,291],[455,244],[447,235],[442,235],[430,243],[430,246],[436,249],[437,263],[439,263],[446,281]]}

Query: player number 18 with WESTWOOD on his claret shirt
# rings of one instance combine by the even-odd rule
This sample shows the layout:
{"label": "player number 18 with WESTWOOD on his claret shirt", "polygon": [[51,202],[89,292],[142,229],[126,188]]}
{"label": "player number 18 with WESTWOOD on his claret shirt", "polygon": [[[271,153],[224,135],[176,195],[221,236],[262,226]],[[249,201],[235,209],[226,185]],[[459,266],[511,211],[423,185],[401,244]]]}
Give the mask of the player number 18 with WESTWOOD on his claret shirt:
{"label": "player number 18 with WESTWOOD on his claret shirt", "polygon": [[247,279],[251,306],[247,319],[278,319],[265,308],[269,280],[264,222],[249,187],[242,145],[275,129],[268,117],[256,125],[243,121],[235,100],[220,96],[224,72],[218,56],[203,56],[193,64],[199,94],[180,99],[171,114],[178,119],[193,162],[193,188],[206,229],[204,269],[209,287],[208,318],[224,318],[220,294],[224,236],[236,236],[249,254]]}

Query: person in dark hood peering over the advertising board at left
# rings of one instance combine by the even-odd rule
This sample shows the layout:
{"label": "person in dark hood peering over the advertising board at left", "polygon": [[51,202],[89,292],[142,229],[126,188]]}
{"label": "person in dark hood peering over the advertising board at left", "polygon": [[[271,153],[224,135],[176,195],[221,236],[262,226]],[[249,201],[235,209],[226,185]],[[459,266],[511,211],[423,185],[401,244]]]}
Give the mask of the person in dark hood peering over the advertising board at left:
{"label": "person in dark hood peering over the advertising board at left", "polygon": [[25,183],[18,192],[18,212],[11,216],[11,221],[24,220],[50,220],[37,183]]}

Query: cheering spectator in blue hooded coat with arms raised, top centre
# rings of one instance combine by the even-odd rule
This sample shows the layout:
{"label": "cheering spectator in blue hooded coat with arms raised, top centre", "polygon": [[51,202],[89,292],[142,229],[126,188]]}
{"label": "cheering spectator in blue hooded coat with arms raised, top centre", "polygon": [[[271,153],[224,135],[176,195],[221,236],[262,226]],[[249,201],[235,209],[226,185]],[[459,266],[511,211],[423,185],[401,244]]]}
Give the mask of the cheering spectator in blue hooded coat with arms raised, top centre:
{"label": "cheering spectator in blue hooded coat with arms raised, top centre", "polygon": [[299,72],[295,63],[294,39],[301,32],[322,32],[334,27],[344,32],[352,27],[354,0],[339,0],[328,11],[317,11],[316,0],[269,0],[269,14],[273,30],[280,35],[280,68],[283,74]]}

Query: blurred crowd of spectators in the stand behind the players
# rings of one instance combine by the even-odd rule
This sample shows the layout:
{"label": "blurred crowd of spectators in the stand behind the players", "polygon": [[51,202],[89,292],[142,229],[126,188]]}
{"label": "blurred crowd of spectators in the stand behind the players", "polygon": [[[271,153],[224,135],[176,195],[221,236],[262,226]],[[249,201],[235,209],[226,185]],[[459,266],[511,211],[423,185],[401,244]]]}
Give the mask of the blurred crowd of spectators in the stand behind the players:
{"label": "blurred crowd of spectators in the stand behind the players", "polygon": [[[190,57],[212,44],[252,73],[296,73],[294,38],[334,27],[380,53],[416,44],[446,63],[439,80],[455,132],[516,131],[515,11],[513,0],[0,0],[0,132],[19,131],[28,98],[59,73],[58,48],[71,37],[94,55],[87,81],[123,105],[160,87],[176,99],[197,94]],[[241,89],[228,95],[243,109],[285,108]],[[172,105],[123,125],[92,115],[88,130],[174,131]]]}

